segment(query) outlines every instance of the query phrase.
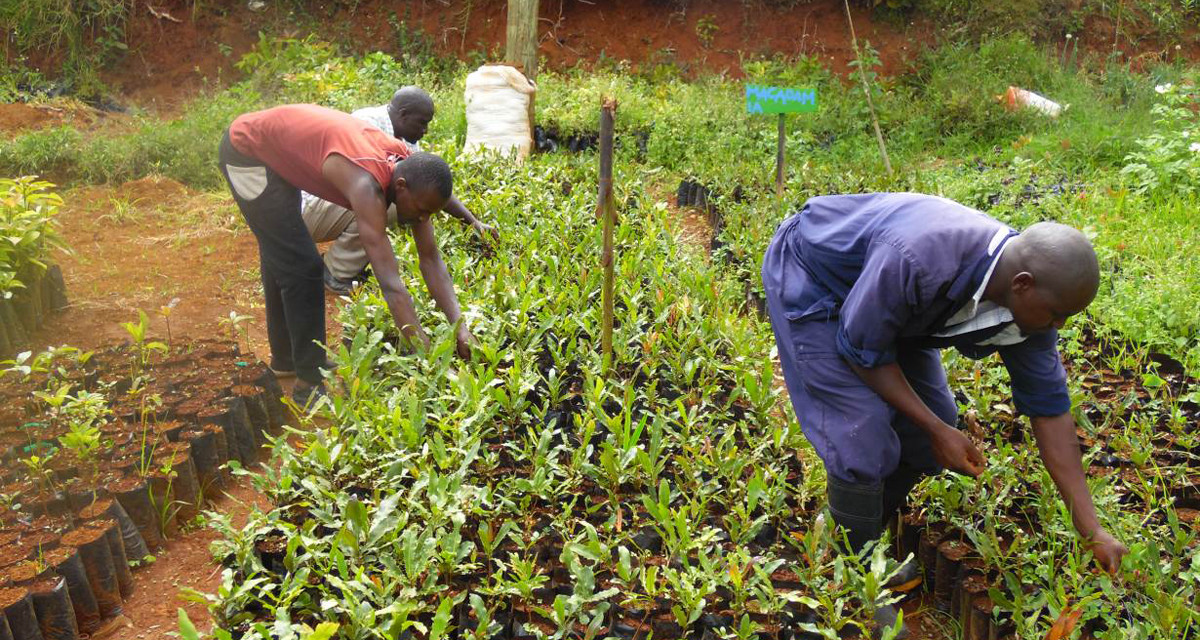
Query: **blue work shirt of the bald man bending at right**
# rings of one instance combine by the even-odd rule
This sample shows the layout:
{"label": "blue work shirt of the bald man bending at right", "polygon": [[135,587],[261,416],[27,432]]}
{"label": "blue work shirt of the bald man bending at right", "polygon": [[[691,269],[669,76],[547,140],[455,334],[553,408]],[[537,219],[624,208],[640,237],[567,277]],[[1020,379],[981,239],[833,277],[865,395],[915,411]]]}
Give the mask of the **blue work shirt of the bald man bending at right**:
{"label": "blue work shirt of the bald man bending at right", "polygon": [[836,319],[836,351],[850,363],[894,363],[902,342],[955,347],[976,359],[1000,353],[1018,411],[1060,415],[1070,409],[1070,396],[1057,331],[1004,346],[980,342],[1010,323],[935,336],[984,285],[989,245],[1016,235],[980,211],[935,196],[822,196],[780,225],[763,261],[763,285],[778,291],[788,322]]}

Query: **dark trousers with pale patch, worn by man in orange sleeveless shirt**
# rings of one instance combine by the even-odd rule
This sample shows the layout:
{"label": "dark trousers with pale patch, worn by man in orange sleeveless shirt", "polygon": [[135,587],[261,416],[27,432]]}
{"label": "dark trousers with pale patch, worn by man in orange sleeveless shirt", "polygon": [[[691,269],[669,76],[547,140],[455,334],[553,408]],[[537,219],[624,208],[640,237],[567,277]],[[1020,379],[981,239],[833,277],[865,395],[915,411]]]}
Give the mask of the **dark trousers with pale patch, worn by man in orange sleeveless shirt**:
{"label": "dark trousers with pale patch, worn by man in orange sleeveless shirt", "polygon": [[295,367],[316,384],[325,364],[325,292],[317,245],[300,216],[300,190],[229,142],[217,154],[246,225],[258,240],[258,264],[266,301],[271,367]]}

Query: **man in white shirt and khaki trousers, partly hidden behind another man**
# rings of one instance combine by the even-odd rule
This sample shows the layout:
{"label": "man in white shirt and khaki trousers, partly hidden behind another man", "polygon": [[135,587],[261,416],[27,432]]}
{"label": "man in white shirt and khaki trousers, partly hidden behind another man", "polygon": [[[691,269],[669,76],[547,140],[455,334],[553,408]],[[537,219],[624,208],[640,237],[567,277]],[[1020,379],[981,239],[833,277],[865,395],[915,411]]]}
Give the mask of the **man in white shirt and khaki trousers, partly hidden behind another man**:
{"label": "man in white shirt and khaki trousers, partly hidden behind another man", "polygon": [[[420,151],[419,142],[428,131],[433,113],[433,98],[425,90],[419,86],[403,86],[386,104],[365,107],[350,115],[403,140],[415,152]],[[354,211],[323,201],[312,193],[301,192],[300,197],[304,222],[313,241],[334,243],[324,256],[325,288],[331,293],[349,293],[356,283],[365,280],[364,269],[368,263],[359,238]],[[480,222],[457,197],[450,198],[445,213],[463,225],[470,225],[481,235],[497,237],[496,228]],[[395,205],[388,208],[388,223],[396,223]]]}

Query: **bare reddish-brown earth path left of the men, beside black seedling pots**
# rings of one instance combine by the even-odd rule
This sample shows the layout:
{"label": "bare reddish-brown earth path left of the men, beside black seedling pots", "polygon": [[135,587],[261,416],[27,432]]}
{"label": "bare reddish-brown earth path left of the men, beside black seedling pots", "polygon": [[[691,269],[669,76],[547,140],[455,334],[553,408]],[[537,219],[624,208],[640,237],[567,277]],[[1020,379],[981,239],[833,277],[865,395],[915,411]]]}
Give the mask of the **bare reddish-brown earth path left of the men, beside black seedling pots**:
{"label": "bare reddish-brown earth path left of the men, beside black seedling pots", "polygon": [[[60,253],[71,306],[36,336],[35,348],[68,345],[83,349],[127,340],[121,322],[150,318],[150,333],[167,339],[158,310],[172,310],[174,340],[227,335],[229,312],[248,316],[240,341],[266,358],[266,334],[258,283],[258,251],[232,198],[188,190],[172,180],[145,178],[120,186],[85,186],[60,191],[61,233],[72,253]],[[329,316],[334,315],[329,301]],[[239,479],[209,508],[228,514],[235,526],[265,497]],[[172,538],[157,561],[134,573],[134,594],[125,603],[131,627],[109,638],[158,639],[178,630],[182,606],[198,628],[211,624],[205,608],[181,599],[185,587],[212,592],[221,567],[209,545],[218,534],[193,527]]]}

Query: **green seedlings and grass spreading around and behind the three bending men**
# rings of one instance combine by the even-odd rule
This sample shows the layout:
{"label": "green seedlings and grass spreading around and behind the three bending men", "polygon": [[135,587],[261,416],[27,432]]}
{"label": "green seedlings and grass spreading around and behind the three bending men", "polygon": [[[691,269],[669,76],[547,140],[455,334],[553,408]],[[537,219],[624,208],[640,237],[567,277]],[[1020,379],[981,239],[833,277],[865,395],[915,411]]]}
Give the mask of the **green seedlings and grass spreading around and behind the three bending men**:
{"label": "green seedlings and grass spreading around and behind the three bending men", "polygon": [[[868,48],[863,62],[872,60]],[[222,627],[346,639],[860,628],[892,598],[878,584],[894,566],[882,549],[841,558],[830,532],[812,527],[821,467],[774,385],[770,330],[746,312],[746,293],[760,288],[775,226],[806,197],[914,190],[1018,228],[1052,219],[1093,237],[1102,291],[1062,348],[1104,524],[1132,554],[1117,579],[1090,573],[995,360],[947,358],[966,421],[988,444],[988,473],[926,482],[914,518],[972,545],[996,622],[1018,638],[1045,638],[1069,610],[1096,638],[1196,633],[1200,551],[1181,514],[1200,390],[1151,353],[1200,370],[1194,71],[1134,72],[1022,35],[944,44],[910,73],[871,77],[896,167],[886,175],[860,88],[815,59],[745,67],[751,80],[821,92],[818,114],[788,120],[784,207],[772,189],[774,120],[744,113],[740,82],[684,82],[662,68],[539,80],[539,122],[560,134],[594,131],[601,95],[620,103],[611,379],[599,375],[590,267],[595,158],[458,157],[464,68],[263,38],[240,64],[242,82],[179,120],[113,138],[59,128],[0,143],[4,172],[82,181],[156,172],[217,189],[216,140],[238,113],[294,101],[352,109],[415,83],[439,108],[430,148],[452,162],[467,204],[503,229],[494,253],[454,225],[439,231],[480,339],[472,363],[454,358],[445,327],[431,353],[397,353],[373,291],[344,307],[349,340],[335,355],[347,388],[319,409],[330,426],[276,443],[277,465],[258,477],[275,508],[241,528],[222,522],[227,570],[209,598]],[[1057,119],[1008,112],[995,96],[1009,84],[1070,107]],[[661,193],[683,178],[714,193],[712,259],[670,232]],[[410,240],[397,235],[396,246],[421,289]],[[419,311],[442,327],[427,300]],[[282,557],[264,557],[269,537],[287,540]],[[961,630],[928,617],[949,636]]]}

